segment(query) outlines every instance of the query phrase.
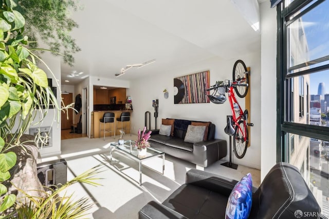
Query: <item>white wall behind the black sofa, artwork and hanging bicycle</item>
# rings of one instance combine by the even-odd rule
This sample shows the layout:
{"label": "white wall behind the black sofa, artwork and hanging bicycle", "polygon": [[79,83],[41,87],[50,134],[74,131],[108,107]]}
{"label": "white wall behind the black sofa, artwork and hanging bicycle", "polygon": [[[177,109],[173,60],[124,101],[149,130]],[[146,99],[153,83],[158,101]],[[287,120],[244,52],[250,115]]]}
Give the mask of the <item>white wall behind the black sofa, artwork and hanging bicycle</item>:
{"label": "white wall behind the black sofa, artwork and hanging bicycle", "polygon": [[[141,78],[131,83],[131,88],[127,89],[127,95],[132,97],[134,112],[132,114],[133,132],[137,133],[139,128],[144,126],[144,114],[146,111],[151,112],[152,128],[154,128],[154,108],[152,100],[159,99],[159,117],[158,126],[161,124],[161,118],[191,119],[197,121],[211,121],[216,125],[215,138],[226,139],[229,142],[228,135],[224,132],[226,126],[226,115],[230,115],[229,102],[224,104],[198,103],[198,104],[174,104],[173,79],[179,76],[194,74],[200,71],[210,70],[210,85],[215,81],[230,79],[232,80],[233,64],[237,59],[242,59],[248,67],[251,67],[251,147],[243,159],[234,157],[234,163],[261,168],[261,86],[260,86],[260,53],[246,54],[236,59],[224,60],[220,58],[211,58],[200,61],[189,66],[174,69],[169,72],[157,72],[156,77]],[[159,69],[160,71],[160,69]],[[163,90],[167,88],[169,98],[163,97]],[[245,100],[239,97],[238,101],[243,106]],[[229,145],[227,145],[229,148]],[[228,160],[229,154],[226,157]]]}

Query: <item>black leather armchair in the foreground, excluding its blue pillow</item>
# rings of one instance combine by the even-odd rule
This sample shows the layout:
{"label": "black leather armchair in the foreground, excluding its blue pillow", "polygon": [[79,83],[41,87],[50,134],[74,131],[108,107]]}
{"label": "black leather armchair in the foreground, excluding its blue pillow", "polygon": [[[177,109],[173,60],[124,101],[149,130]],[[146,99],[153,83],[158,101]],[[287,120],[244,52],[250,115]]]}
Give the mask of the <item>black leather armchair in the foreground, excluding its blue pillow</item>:
{"label": "black leather armchair in the foreground, excluding its blue pillow", "polygon": [[[192,169],[186,174],[186,184],[162,204],[151,201],[145,205],[139,218],[225,218],[227,199],[236,182]],[[314,212],[309,218],[315,218],[314,215],[320,218],[320,206],[298,169],[288,163],[277,163],[260,187],[253,188],[249,218],[296,218],[297,210]]]}

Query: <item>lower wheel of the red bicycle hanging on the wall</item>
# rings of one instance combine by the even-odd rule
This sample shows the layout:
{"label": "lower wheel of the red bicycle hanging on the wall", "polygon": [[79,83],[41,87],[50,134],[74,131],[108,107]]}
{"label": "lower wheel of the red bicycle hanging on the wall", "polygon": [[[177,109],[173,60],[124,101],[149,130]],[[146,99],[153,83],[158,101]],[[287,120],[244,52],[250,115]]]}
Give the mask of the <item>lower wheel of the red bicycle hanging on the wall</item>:
{"label": "lower wheel of the red bicycle hanging on the wall", "polygon": [[[247,147],[248,147],[248,130],[245,130],[245,125],[244,125],[245,120],[240,120],[239,121],[239,126],[241,129],[239,129],[239,126],[235,126],[235,133],[233,135],[233,150],[234,154],[237,158],[241,159],[245,156]],[[243,139],[243,133],[246,131],[247,134],[247,139]]]}

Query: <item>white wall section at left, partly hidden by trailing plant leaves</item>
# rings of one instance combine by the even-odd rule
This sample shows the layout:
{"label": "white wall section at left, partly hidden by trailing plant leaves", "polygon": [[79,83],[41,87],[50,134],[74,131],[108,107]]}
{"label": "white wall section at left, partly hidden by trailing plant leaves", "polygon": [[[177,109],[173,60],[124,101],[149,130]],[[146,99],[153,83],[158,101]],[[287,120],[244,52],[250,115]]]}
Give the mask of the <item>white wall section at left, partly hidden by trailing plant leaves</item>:
{"label": "white wall section at left, partly hidden by trailing plant leaves", "polygon": [[[49,69],[42,63],[38,64],[40,68],[42,68],[48,78],[52,79],[52,86],[57,86],[57,101],[60,105],[60,88],[58,86],[58,81],[61,81],[61,60],[60,57],[54,57],[49,53],[44,53],[42,56],[42,60],[46,63]],[[42,157],[52,156],[61,154],[61,119],[60,119],[60,111],[57,109],[49,109],[48,114],[39,124],[31,125],[30,128],[33,127],[47,127],[52,126],[52,147],[42,148],[40,149],[40,154]],[[38,116],[37,116],[38,118]],[[39,117],[40,118],[40,117]],[[58,120],[59,119],[59,120]]]}

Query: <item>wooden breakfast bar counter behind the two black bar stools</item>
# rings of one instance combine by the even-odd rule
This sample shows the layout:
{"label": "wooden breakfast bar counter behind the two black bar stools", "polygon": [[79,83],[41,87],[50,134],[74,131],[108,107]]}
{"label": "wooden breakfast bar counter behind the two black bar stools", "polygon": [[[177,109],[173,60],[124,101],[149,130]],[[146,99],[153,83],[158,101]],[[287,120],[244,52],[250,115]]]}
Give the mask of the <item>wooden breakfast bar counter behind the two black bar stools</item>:
{"label": "wooden breakfast bar counter behind the two black bar stools", "polygon": [[[94,111],[93,115],[94,115],[94,123],[93,123],[93,136],[94,138],[99,138],[99,123],[100,123],[100,119],[103,118],[104,113],[114,113],[115,115],[115,119],[114,119],[114,123],[115,123],[115,128],[116,128],[116,138],[120,137],[120,132],[117,129],[117,118],[120,117],[122,112],[130,112],[130,116],[132,117],[132,113],[133,111],[131,110],[116,110],[116,111]],[[132,118],[130,118],[132,119]],[[113,129],[113,123],[105,123],[105,129],[109,129],[109,126],[111,125],[111,128]],[[123,122],[123,126],[126,125],[127,129],[126,129],[126,134],[130,133],[130,122]],[[121,122],[118,123],[118,126],[121,127]],[[101,129],[104,129],[104,126],[102,124]],[[101,135],[104,136],[103,132],[101,132]],[[113,133],[105,133],[105,136],[113,136]]]}

